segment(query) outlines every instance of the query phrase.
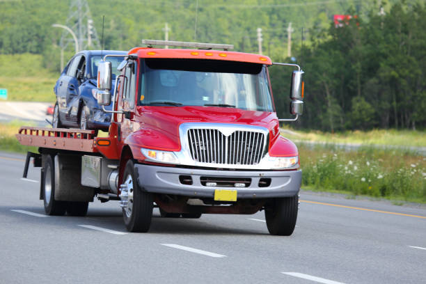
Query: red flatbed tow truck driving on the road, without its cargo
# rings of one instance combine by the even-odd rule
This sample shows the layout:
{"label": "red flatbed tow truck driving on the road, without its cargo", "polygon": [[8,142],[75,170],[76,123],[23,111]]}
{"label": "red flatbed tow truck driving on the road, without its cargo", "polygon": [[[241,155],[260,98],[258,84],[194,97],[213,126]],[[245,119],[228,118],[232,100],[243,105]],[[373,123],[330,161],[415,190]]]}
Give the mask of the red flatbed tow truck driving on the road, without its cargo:
{"label": "red flatbed tow truck driving on the road, without its cargo", "polygon": [[[147,232],[153,207],[163,217],[255,214],[271,235],[291,235],[301,170],[297,147],[280,135],[271,65],[294,69],[290,113],[303,111],[300,67],[232,45],[143,40],[118,66],[98,66],[98,104],[111,104],[107,137],[94,130],[21,127],[27,154],[41,167],[48,215],[84,216],[88,203],[119,200],[129,232]],[[185,48],[153,48],[153,46]],[[189,47],[189,48],[188,48]],[[107,110],[105,110],[107,111]]]}

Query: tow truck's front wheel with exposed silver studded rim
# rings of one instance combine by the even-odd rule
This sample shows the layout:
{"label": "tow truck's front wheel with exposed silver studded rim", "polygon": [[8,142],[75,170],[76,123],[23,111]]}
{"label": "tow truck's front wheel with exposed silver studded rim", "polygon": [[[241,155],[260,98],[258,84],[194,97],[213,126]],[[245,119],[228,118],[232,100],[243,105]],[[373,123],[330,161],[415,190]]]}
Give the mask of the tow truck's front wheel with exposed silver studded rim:
{"label": "tow truck's front wheel with exposed silver studded rim", "polygon": [[[121,184],[123,219],[129,232],[148,232],[152,219],[152,194],[142,191],[134,173],[134,163],[127,161]],[[124,202],[123,202],[124,201]]]}

